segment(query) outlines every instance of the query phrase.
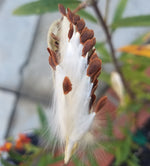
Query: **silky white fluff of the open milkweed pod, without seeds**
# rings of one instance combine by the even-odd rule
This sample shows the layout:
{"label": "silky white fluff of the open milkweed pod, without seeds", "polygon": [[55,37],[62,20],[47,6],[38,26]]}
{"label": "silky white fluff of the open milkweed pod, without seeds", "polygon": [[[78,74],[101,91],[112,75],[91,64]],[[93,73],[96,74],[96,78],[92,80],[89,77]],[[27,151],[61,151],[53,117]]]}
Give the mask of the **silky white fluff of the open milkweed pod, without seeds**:
{"label": "silky white fluff of the open milkweed pod, without seeds", "polygon": [[[88,53],[86,57],[82,56],[83,44],[80,42],[80,33],[73,25],[73,35],[69,39],[69,29],[70,22],[63,16],[60,21],[53,24],[48,34],[50,48],[53,48],[50,45],[50,33],[59,37],[59,64],[53,70],[54,96],[50,110],[50,126],[59,144],[66,146],[65,163],[79,145],[87,145],[87,141],[93,141],[90,130],[95,118],[93,108],[89,110],[93,83],[87,76]],[[63,91],[65,77],[68,77],[72,84],[72,90],[67,95]]]}

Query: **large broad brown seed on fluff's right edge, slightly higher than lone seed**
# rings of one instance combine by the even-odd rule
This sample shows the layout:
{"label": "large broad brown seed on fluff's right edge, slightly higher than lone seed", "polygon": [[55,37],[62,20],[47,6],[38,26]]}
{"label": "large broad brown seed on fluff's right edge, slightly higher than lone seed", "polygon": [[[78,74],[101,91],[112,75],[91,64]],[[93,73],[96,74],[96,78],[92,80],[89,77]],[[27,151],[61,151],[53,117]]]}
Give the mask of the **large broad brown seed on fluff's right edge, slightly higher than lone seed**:
{"label": "large broad brown seed on fluff's right edge, slightly higher than lone seed", "polygon": [[89,77],[93,77],[96,73],[98,73],[101,70],[101,60],[95,59],[89,63],[88,69],[87,69],[87,75]]}

